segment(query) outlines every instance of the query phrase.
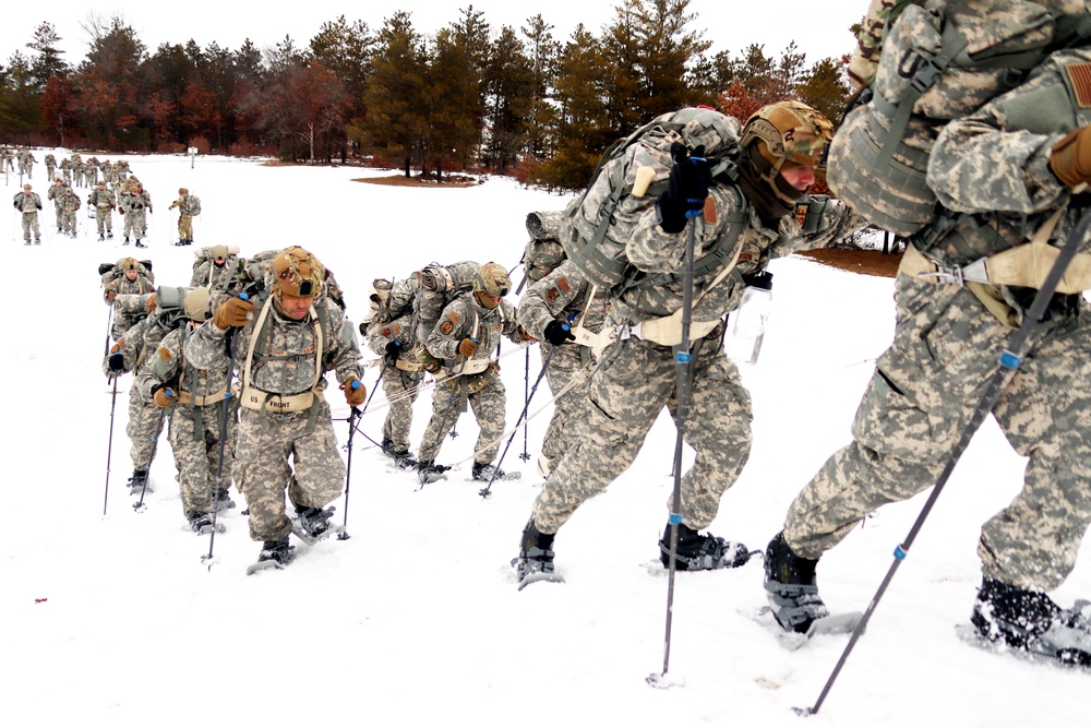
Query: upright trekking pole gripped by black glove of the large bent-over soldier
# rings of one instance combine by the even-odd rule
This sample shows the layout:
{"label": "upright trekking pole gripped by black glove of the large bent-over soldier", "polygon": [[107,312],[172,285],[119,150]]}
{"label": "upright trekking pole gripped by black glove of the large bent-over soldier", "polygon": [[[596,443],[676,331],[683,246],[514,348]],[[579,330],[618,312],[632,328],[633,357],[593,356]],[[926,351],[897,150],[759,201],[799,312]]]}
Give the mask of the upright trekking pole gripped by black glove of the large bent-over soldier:
{"label": "upright trekking pole gripped by black glove of the large bent-over soldier", "polygon": [[[679,165],[680,160],[675,158],[674,164]],[[636,194],[639,190],[642,181],[640,172],[645,172],[645,170],[654,171],[649,167],[643,167],[637,170],[637,183],[634,184],[633,194]],[[645,184],[644,190],[640,190],[642,194],[646,190],[647,186]],[[697,213],[697,215],[699,214]],[[693,250],[696,237],[697,220],[696,215],[694,215],[686,223],[685,263],[682,268],[682,341],[674,349],[674,361],[678,368],[678,383],[675,384],[678,391],[678,406],[675,411],[678,415],[675,417],[676,434],[674,437],[674,491],[671,496],[671,514],[669,518],[671,525],[671,564],[667,578],[667,631],[663,637],[663,671],[660,675],[652,672],[647,678],[648,683],[655,688],[670,685],[667,681],[667,671],[670,668],[671,661],[671,625],[674,617],[674,573],[678,564],[679,524],[682,523],[682,515],[678,511],[682,501],[682,446],[685,438],[686,396],[690,384],[690,321],[693,314]]]}

